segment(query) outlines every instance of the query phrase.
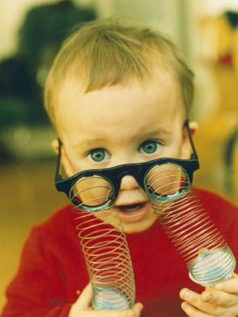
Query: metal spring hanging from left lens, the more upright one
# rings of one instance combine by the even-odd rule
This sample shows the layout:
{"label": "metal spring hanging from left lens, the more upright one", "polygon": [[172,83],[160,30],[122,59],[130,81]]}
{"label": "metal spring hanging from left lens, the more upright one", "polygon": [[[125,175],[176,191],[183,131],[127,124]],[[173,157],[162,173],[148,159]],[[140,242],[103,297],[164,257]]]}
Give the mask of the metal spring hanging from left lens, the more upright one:
{"label": "metal spring hanging from left lens, the more upright one", "polygon": [[135,297],[134,274],[118,211],[82,211],[81,204],[75,206],[76,196],[80,192],[75,192],[71,205],[78,215],[75,219],[80,220],[77,230],[92,284],[92,308],[130,309]]}

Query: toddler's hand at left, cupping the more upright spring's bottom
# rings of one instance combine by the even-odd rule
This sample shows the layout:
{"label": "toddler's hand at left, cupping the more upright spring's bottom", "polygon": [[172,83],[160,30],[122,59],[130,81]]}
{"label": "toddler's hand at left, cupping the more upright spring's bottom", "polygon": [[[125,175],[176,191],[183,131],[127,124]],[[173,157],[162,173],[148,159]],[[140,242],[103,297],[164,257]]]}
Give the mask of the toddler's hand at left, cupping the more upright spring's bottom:
{"label": "toddler's hand at left, cupping the more upright spring's bottom", "polygon": [[77,299],[70,309],[68,317],[139,317],[143,309],[142,304],[134,304],[132,309],[125,309],[121,311],[93,311],[92,310],[92,286],[89,283],[80,297]]}

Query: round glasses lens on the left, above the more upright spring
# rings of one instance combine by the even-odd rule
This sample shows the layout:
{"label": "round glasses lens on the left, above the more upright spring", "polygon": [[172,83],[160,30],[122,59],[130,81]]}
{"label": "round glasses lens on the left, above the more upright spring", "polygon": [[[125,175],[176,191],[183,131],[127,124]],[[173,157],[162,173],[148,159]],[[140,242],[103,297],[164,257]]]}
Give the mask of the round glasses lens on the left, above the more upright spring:
{"label": "round glasses lens on the left, above the more upright spring", "polygon": [[70,189],[72,203],[80,209],[93,209],[113,200],[113,187],[99,175],[80,178]]}

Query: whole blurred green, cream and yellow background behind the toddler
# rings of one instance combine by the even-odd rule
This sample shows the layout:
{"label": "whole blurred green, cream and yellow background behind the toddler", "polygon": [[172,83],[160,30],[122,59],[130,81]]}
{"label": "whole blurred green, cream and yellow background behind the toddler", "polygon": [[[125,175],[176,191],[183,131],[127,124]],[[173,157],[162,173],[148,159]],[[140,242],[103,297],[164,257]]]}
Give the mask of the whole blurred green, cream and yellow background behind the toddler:
{"label": "whole blurred green, cream and yellow background behind the toddler", "polygon": [[237,0],[1,0],[0,311],[30,225],[68,202],[54,188],[46,75],[74,25],[113,13],[144,20],[184,51],[196,74],[190,119],[200,126],[194,185],[238,203]]}

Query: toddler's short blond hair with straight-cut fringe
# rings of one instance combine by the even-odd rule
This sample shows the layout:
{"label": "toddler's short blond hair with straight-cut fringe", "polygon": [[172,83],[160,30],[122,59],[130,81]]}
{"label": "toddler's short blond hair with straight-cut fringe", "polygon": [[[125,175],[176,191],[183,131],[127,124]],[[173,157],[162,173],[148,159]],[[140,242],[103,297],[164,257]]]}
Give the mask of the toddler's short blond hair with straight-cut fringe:
{"label": "toddler's short blond hair with straight-cut fringe", "polygon": [[[180,49],[161,33],[127,18],[94,20],[73,33],[58,52],[46,80],[44,101],[56,127],[56,106],[67,82],[84,93],[137,78],[148,82],[154,68],[173,70],[181,85],[186,112],[194,96],[193,73]],[[76,84],[75,84],[76,83]]]}

